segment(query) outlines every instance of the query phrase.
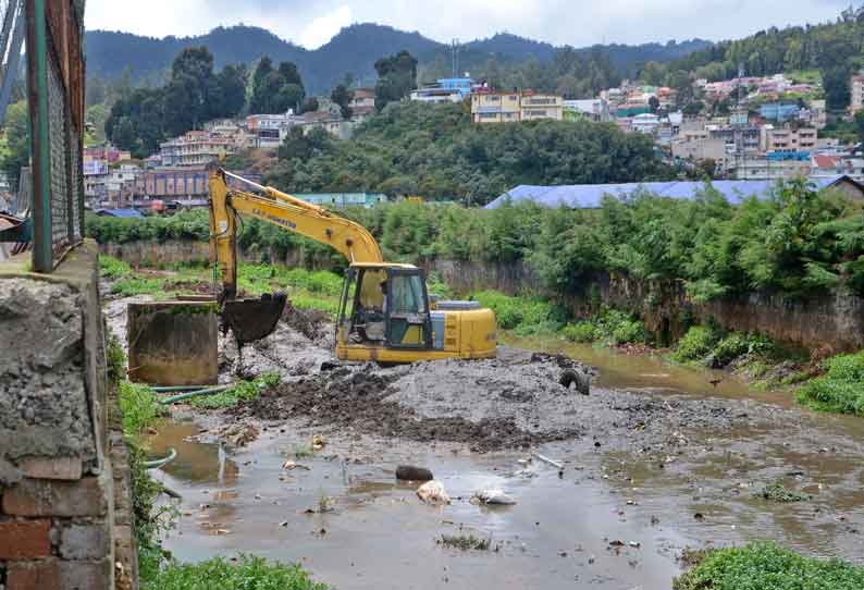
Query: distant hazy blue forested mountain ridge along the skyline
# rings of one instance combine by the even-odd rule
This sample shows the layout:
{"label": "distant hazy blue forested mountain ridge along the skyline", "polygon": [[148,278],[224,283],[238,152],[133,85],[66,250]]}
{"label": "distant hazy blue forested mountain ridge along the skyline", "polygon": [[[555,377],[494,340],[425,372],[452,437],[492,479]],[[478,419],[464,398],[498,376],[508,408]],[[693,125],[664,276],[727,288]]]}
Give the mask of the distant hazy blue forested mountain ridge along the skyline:
{"label": "distant hazy blue forested mountain ridge along the skyline", "polygon": [[[646,61],[665,62],[711,44],[703,40],[681,44],[646,44],[642,46],[595,46],[580,51],[607,51],[622,73],[633,71]],[[358,24],[343,28],[326,45],[309,51],[272,33],[251,26],[218,27],[198,37],[157,39],[129,33],[88,30],[86,34],[87,72],[107,79],[121,77],[131,69],[134,81],[162,82],[174,57],[186,47],[206,46],[213,53],[215,67],[229,63],[251,63],[262,56],[274,62],[291,61],[297,67],[310,93],[325,93],[350,72],[361,82],[371,83],[373,64],[383,56],[406,49],[423,63],[446,63],[449,73],[448,47],[419,33],[398,30],[377,24]],[[522,62],[530,58],[550,61],[557,49],[545,42],[510,34],[465,44],[460,51],[460,69],[470,71],[490,58],[502,63]],[[434,69],[433,69],[434,70]],[[431,70],[430,70],[431,71]]]}

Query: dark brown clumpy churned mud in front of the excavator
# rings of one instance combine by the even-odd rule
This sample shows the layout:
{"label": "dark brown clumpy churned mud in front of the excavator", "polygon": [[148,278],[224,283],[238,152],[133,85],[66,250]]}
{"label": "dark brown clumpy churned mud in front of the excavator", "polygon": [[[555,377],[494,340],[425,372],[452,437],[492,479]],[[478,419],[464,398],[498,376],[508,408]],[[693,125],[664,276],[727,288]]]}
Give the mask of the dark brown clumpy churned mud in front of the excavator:
{"label": "dark brown clumpy churned mud in front of the excavator", "polygon": [[458,415],[421,415],[395,398],[399,394],[395,384],[405,372],[377,371],[373,366],[340,368],[328,374],[283,383],[242,411],[271,420],[305,417],[310,426],[351,427],[420,442],[466,443],[477,452],[527,447],[579,435],[575,429],[528,430],[520,427],[515,416],[469,419]]}

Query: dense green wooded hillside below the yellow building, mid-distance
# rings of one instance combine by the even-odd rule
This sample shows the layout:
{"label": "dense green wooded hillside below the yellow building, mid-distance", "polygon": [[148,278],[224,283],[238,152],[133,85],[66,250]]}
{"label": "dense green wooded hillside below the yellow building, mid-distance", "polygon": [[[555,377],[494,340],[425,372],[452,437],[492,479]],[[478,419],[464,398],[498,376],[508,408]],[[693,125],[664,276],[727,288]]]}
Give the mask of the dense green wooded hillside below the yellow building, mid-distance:
{"label": "dense green wooded hillside below the yellow building, mid-distance", "polygon": [[483,205],[518,184],[671,176],[649,137],[610,123],[478,126],[466,105],[398,101],[348,140],[289,135],[264,181],[293,192],[372,190]]}

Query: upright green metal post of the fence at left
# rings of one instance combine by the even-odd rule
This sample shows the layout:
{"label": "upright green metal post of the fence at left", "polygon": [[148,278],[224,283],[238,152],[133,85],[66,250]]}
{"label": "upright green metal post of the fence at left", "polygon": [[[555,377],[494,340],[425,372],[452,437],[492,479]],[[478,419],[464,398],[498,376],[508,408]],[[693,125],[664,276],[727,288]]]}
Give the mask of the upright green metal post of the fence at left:
{"label": "upright green metal post of the fence at left", "polygon": [[53,270],[45,0],[27,0],[27,99],[33,146],[33,270]]}

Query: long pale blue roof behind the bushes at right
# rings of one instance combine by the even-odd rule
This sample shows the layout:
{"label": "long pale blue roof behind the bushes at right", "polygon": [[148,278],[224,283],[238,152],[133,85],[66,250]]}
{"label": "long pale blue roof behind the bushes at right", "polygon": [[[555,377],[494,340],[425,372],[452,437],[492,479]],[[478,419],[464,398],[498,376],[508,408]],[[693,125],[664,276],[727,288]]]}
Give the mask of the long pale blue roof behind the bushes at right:
{"label": "long pale blue roof behind the bushes at right", "polygon": [[[832,186],[841,180],[849,180],[849,176],[837,175],[832,177],[811,179],[818,189]],[[854,181],[852,181],[854,182]],[[713,181],[712,186],[718,190],[732,205],[738,205],[750,196],[766,197],[772,189],[777,186],[776,181]],[[856,183],[857,184],[857,183]],[[646,183],[625,183],[625,184],[570,184],[560,186],[535,186],[521,184],[511,188],[498,198],[486,205],[486,209],[496,209],[507,199],[511,202],[531,200],[545,207],[572,207],[577,209],[597,209],[603,197],[626,197],[637,189],[647,190],[661,197],[674,199],[692,199],[696,193],[702,190],[705,183],[702,182],[646,182]]]}

